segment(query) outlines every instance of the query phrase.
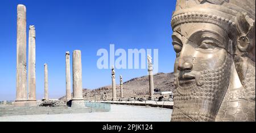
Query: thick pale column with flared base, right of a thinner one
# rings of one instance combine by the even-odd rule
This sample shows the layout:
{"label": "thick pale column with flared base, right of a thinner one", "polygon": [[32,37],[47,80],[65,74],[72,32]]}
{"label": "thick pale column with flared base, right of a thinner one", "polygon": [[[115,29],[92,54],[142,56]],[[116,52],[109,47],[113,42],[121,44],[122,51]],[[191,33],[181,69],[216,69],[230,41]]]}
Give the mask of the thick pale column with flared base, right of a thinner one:
{"label": "thick pale column with flared base, right of a thinner one", "polygon": [[82,97],[81,51],[73,51],[73,98],[71,107],[85,107]]}

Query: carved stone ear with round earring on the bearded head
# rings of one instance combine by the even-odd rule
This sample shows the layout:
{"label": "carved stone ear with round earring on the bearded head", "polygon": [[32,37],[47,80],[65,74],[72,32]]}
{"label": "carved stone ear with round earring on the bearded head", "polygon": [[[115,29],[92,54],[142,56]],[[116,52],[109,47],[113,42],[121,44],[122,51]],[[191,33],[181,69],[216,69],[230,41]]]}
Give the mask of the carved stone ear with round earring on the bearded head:
{"label": "carved stone ear with round earring on the bearded head", "polygon": [[242,52],[246,52],[251,43],[251,39],[247,36],[254,26],[254,20],[246,13],[237,14],[237,46]]}

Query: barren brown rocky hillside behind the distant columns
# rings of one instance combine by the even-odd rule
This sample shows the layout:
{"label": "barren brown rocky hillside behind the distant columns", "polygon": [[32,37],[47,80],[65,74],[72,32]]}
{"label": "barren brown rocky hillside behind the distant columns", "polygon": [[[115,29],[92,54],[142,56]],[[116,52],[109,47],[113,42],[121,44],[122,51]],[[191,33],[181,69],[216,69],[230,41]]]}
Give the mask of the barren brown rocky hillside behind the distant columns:
{"label": "barren brown rocky hillside behind the distant columns", "polygon": [[[174,89],[174,73],[157,73],[154,75],[154,88],[155,92],[172,91]],[[120,97],[119,84],[116,85],[117,98]],[[97,89],[83,89],[83,96],[86,99],[86,93],[90,93],[90,99],[96,97],[100,99],[100,93],[106,93],[107,99],[112,98],[112,85],[103,86]],[[136,97],[148,97],[149,95],[149,81],[148,76],[133,78],[129,81],[123,82],[123,95],[125,98]],[[61,100],[64,97],[59,98]]]}

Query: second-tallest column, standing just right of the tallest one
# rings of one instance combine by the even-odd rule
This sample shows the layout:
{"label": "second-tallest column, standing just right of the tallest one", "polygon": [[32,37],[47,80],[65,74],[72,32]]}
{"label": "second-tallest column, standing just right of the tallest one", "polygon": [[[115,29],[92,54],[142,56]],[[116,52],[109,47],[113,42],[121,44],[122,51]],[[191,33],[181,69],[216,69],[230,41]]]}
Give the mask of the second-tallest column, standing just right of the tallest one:
{"label": "second-tallest column, standing just right of the tallest one", "polygon": [[35,63],[35,26],[30,26],[28,34],[28,104],[30,106],[36,106]]}

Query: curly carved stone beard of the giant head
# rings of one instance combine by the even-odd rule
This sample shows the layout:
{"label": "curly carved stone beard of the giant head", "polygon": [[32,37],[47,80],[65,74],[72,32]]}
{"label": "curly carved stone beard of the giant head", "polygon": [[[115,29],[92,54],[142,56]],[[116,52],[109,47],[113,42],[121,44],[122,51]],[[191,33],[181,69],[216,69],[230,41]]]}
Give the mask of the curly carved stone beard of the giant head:
{"label": "curly carved stone beard of the giant head", "polygon": [[177,81],[171,121],[214,121],[229,86],[231,64],[228,55],[219,68],[200,72],[201,86],[196,80],[184,84]]}

